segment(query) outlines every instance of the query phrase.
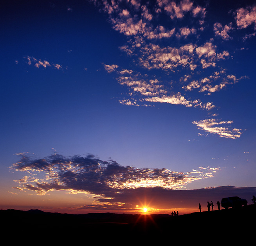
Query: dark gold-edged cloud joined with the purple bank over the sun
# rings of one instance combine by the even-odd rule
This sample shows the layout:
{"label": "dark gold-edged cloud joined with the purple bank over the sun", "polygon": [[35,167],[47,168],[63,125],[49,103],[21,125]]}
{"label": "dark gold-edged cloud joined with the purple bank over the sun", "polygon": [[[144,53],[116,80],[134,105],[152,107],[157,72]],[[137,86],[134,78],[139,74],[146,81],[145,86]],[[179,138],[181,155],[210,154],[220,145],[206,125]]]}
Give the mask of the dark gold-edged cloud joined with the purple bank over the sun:
{"label": "dark gold-edged cloud joined with the purple bank over the sun", "polygon": [[75,209],[128,211],[145,205],[155,209],[189,209],[197,208],[198,203],[203,207],[207,201],[227,196],[240,196],[250,202],[252,195],[256,194],[256,187],[184,189],[188,182],[213,176],[216,168],[200,167],[189,173],[178,173],[164,168],[121,166],[114,160],[103,161],[94,155],[63,157],[58,154],[42,159],[21,155],[20,161],[12,168],[29,173],[15,180],[20,185],[15,189],[20,191],[30,190],[43,195],[65,190],[72,194],[95,195],[90,205]]}

